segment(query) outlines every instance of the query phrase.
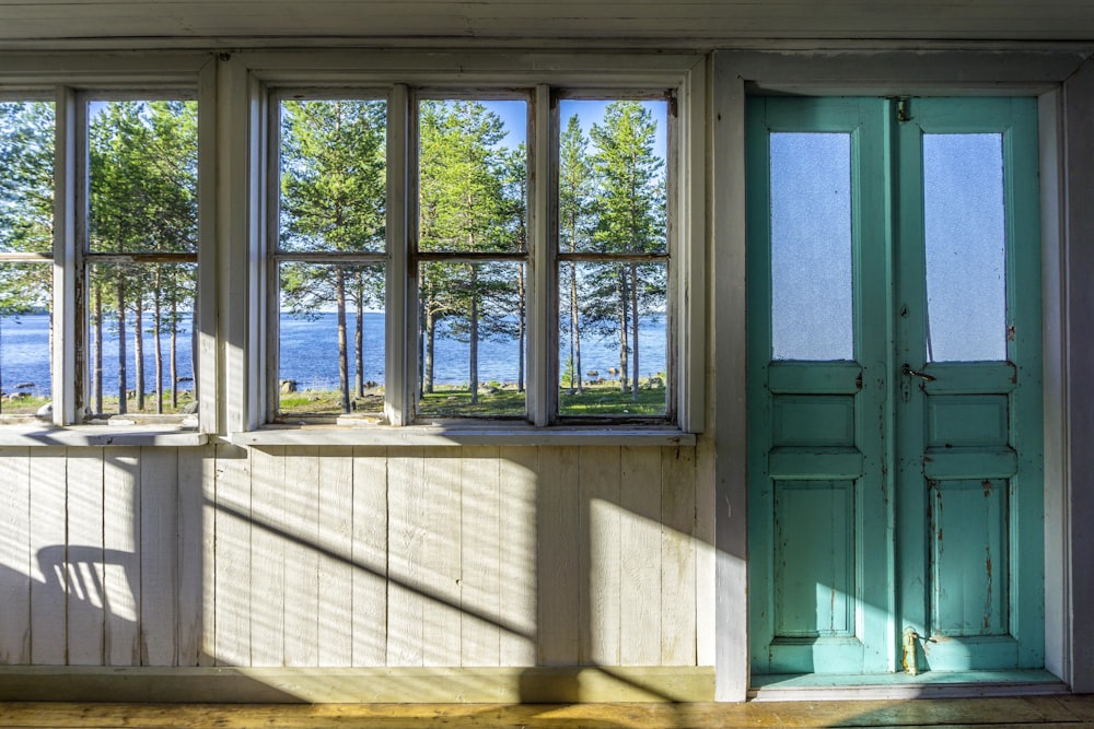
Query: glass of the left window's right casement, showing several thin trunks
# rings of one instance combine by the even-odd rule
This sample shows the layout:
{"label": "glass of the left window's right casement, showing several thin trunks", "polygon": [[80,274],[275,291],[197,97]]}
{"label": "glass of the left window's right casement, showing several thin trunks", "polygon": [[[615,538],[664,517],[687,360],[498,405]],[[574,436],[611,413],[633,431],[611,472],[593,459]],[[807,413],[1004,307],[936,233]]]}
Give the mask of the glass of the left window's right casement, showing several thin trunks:
{"label": "glass of the left window's right casement, showing several thin trunks", "polygon": [[197,103],[88,104],[89,414],[193,413]]}

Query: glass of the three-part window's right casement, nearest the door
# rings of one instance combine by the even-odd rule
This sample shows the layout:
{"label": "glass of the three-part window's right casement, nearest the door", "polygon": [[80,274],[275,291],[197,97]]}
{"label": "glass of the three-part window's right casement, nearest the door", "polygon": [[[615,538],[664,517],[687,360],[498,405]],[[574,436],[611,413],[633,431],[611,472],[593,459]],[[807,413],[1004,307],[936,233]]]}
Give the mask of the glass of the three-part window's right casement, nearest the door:
{"label": "glass of the three-part window's right casement, nearest the door", "polygon": [[662,416],[668,104],[565,99],[559,111],[559,414]]}

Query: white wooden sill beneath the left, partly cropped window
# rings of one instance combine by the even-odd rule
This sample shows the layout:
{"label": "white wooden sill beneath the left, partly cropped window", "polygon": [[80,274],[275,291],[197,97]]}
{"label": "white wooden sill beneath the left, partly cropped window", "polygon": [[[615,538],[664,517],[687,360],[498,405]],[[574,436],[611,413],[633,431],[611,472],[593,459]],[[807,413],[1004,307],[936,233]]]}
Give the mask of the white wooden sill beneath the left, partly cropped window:
{"label": "white wooden sill beneath the left, partly cropped window", "polygon": [[3,425],[0,446],[203,446],[209,436],[170,425]]}

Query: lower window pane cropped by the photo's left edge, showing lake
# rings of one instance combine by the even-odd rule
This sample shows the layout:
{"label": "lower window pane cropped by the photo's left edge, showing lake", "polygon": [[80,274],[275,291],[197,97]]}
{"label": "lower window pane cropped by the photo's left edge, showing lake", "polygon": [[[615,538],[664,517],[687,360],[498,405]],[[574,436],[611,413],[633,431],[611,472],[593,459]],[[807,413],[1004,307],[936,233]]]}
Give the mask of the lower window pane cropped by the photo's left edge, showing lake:
{"label": "lower window pane cropped by the photo's left edge, showing lake", "polygon": [[4,415],[33,415],[49,403],[51,279],[48,262],[0,263],[0,413]]}

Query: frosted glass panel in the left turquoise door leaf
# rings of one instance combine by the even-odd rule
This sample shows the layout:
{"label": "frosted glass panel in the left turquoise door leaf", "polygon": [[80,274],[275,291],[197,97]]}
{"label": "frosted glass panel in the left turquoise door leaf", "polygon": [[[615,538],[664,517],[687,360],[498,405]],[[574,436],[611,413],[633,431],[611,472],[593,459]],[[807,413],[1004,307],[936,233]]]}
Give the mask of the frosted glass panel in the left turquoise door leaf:
{"label": "frosted glass panel in the left turquoise door leaf", "polygon": [[771,350],[854,358],[851,137],[771,134]]}

